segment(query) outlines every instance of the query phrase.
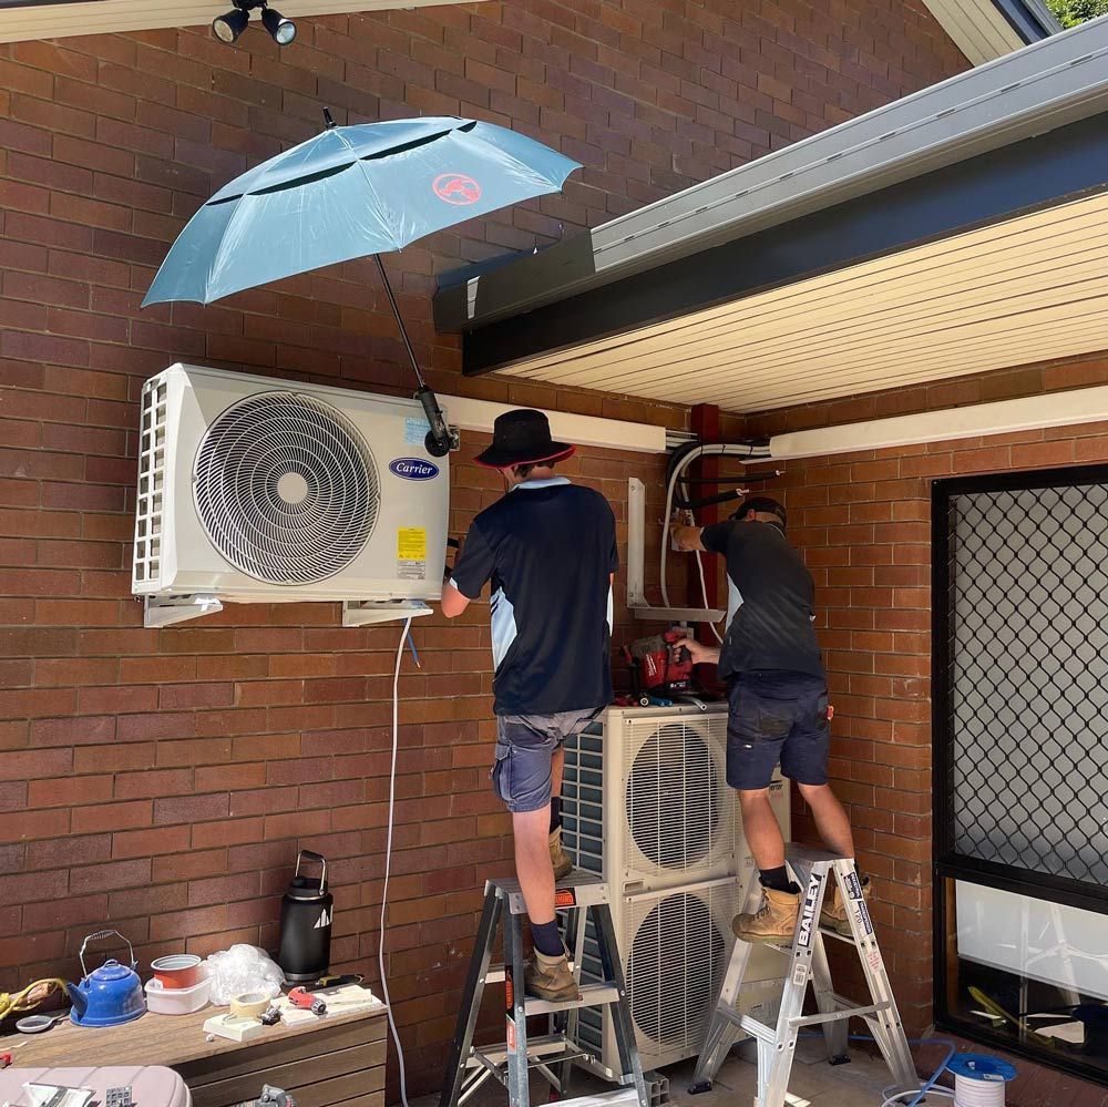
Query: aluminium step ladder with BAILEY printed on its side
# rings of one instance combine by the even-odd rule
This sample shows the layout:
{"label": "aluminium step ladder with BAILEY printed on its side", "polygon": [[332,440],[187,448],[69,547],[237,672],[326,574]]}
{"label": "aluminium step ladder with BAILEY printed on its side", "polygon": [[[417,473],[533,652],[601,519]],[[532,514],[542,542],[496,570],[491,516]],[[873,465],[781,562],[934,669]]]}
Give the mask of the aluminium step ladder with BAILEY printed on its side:
{"label": "aluminium step ladder with BAILEY printed on its side", "polygon": [[[800,914],[792,942],[776,946],[790,957],[788,975],[781,993],[781,1006],[776,1026],[769,1026],[751,1015],[740,1014],[738,1001],[750,943],[737,941],[731,951],[715,1014],[708,1026],[704,1047],[693,1076],[694,1094],[707,1091],[719,1072],[720,1065],[731,1046],[749,1035],[758,1043],[758,1098],[756,1107],[784,1107],[784,1097],[792,1072],[792,1059],[797,1050],[800,1033],[809,1026],[820,1026],[828,1047],[828,1059],[832,1065],[850,1060],[847,1053],[848,1021],[854,1016],[863,1018],[892,1073],[897,1090],[907,1091],[919,1087],[915,1063],[909,1049],[904,1027],[896,1011],[889,985],[881,951],[878,949],[873,923],[862,895],[862,884],[852,858],[839,857],[824,850],[790,844],[786,862],[793,879],[803,890]],[[839,894],[848,904],[851,937],[819,925],[823,896],[830,882],[839,885]],[[745,896],[742,911],[757,908],[760,885],[751,877]],[[870,990],[871,1003],[860,1006],[837,995],[831,986],[831,970],[828,965],[823,939],[832,937],[853,945],[858,950],[862,971]],[[804,995],[808,982],[812,982],[815,1005],[819,1013],[804,1015]]]}

